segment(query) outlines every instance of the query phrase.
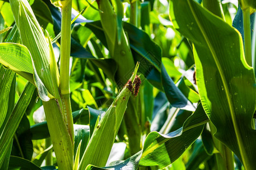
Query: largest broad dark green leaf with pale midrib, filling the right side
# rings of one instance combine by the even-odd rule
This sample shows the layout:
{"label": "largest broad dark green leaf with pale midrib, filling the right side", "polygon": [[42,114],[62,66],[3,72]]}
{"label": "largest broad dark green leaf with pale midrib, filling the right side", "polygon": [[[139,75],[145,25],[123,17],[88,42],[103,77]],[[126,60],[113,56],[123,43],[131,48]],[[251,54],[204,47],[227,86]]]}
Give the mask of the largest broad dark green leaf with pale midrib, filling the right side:
{"label": "largest broad dark green leaf with pale midrib, filling the right side", "polygon": [[205,112],[217,128],[214,135],[240,158],[245,169],[253,169],[256,132],[251,119],[256,86],[241,35],[194,1],[174,0],[170,9],[175,28],[194,43],[197,85]]}

